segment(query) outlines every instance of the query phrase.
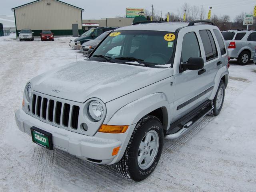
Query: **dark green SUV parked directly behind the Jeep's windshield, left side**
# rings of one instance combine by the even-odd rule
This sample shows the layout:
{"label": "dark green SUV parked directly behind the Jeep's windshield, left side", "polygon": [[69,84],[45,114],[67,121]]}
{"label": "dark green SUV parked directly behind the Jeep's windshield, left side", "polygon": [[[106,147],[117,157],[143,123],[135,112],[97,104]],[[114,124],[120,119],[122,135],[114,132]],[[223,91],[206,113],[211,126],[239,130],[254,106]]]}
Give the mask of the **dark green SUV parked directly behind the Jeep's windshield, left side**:
{"label": "dark green SUV parked directly behind the Jeep's windshield, left side", "polygon": [[97,38],[98,36],[100,36],[102,33],[109,31],[109,30],[114,30],[117,27],[98,27],[98,28],[91,28],[90,30],[88,30],[86,32],[86,34],[84,36],[80,36],[78,38],[75,39],[75,45],[74,48],[76,48],[77,50],[80,50],[81,45],[86,42],[86,41],[90,41],[93,40],[95,38]]}

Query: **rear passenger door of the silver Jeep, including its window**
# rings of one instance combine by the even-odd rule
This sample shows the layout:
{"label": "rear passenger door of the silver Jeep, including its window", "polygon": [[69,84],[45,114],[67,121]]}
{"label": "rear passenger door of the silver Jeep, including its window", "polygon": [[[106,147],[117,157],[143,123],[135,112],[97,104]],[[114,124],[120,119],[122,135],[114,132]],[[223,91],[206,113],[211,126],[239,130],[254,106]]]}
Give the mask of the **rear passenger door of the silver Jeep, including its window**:
{"label": "rear passenger door of the silver Jeep, including its window", "polygon": [[[207,96],[210,97],[214,87],[214,79],[218,70],[222,67],[222,60],[218,54],[218,49],[210,30],[199,31],[202,44],[204,46],[204,65],[206,68],[206,87],[208,90]],[[226,51],[226,49],[225,49]]]}

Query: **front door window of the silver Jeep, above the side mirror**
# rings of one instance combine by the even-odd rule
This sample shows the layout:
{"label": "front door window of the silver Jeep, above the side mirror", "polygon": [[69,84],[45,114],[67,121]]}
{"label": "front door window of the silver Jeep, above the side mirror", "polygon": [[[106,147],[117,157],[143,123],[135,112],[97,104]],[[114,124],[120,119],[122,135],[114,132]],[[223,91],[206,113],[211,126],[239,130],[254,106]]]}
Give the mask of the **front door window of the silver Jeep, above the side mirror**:
{"label": "front door window of the silver Jeep, above the side mirror", "polygon": [[181,51],[181,62],[187,62],[190,57],[201,57],[200,47],[194,32],[184,35]]}

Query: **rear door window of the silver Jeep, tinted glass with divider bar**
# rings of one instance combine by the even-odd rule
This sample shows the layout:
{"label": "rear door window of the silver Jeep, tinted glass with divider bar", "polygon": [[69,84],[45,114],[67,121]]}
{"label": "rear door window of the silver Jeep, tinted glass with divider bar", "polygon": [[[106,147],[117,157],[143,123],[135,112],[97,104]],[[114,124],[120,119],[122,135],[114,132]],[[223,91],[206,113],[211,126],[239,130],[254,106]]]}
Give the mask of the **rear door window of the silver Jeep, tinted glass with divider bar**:
{"label": "rear door window of the silver Jeep, tinted glass with divider bar", "polygon": [[216,58],[218,56],[218,53],[216,51],[216,45],[211,32],[209,30],[200,30],[199,34],[204,45],[206,61]]}

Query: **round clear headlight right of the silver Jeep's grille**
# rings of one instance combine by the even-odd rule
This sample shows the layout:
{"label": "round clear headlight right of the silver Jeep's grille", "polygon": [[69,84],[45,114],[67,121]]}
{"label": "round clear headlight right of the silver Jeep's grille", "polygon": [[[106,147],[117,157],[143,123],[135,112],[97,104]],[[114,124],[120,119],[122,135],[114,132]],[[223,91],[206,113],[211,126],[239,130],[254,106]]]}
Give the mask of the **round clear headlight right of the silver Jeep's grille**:
{"label": "round clear headlight right of the silver Jeep's grille", "polygon": [[88,114],[93,121],[101,120],[104,114],[103,104],[96,100],[91,101],[88,106]]}

